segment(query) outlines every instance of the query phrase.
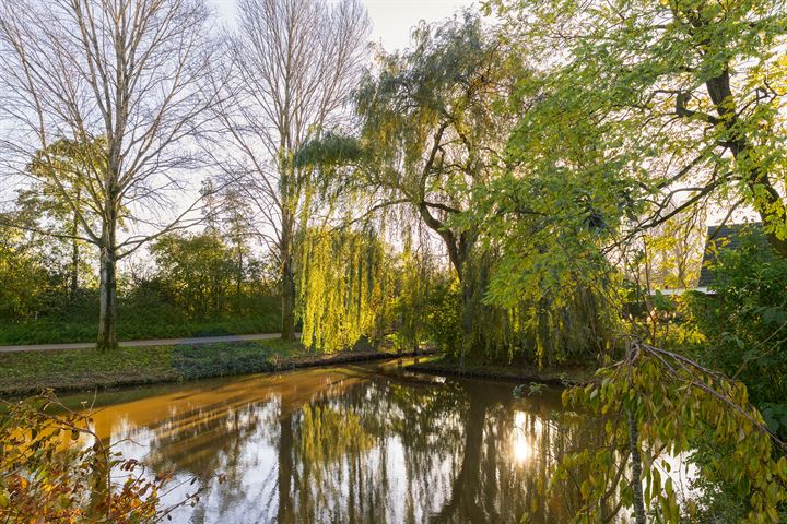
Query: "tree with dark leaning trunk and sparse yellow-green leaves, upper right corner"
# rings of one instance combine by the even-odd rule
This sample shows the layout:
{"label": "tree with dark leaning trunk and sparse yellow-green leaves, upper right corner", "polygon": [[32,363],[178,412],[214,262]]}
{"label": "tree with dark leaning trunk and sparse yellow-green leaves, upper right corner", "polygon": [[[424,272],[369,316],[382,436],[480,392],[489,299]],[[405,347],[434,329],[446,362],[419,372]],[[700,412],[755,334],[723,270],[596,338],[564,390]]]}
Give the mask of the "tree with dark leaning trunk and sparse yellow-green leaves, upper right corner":
{"label": "tree with dark leaning trunk and sparse yellow-green leaves, upper right corner", "polygon": [[632,231],[708,200],[743,202],[787,255],[784,2],[490,4],[547,64],[540,90],[552,102],[528,111],[517,146],[543,126],[567,130],[544,148],[572,148],[585,140],[571,128],[592,126],[598,153],[633,182],[627,198],[647,204]]}

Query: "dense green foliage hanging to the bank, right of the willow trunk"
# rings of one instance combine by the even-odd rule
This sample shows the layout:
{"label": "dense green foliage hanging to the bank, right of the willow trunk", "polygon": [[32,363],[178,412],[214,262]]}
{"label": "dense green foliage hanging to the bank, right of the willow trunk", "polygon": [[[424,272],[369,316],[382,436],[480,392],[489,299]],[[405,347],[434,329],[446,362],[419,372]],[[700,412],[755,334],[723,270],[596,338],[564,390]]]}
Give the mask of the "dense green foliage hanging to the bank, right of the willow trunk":
{"label": "dense green foliage hanging to the bank, right of the willow trunk", "polygon": [[609,250],[637,216],[636,187],[607,154],[603,124],[567,120],[538,75],[518,90],[528,107],[504,162],[453,224],[494,248],[482,297],[509,312],[522,350],[538,364],[587,361],[612,349],[621,275]]}

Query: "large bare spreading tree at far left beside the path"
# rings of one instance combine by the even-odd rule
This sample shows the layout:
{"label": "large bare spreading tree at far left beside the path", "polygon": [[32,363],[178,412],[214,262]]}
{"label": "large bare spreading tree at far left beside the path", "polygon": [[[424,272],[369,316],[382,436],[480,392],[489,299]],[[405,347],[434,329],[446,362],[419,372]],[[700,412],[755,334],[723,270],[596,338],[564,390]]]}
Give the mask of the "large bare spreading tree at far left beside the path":
{"label": "large bare spreading tree at far left beside the path", "polygon": [[[117,347],[117,261],[185,227],[198,202],[173,213],[167,194],[199,167],[189,138],[215,103],[210,14],[203,0],[0,0],[0,145],[11,176],[58,192],[99,249],[99,349]],[[82,150],[82,202],[50,153],[63,138],[101,139]]]}

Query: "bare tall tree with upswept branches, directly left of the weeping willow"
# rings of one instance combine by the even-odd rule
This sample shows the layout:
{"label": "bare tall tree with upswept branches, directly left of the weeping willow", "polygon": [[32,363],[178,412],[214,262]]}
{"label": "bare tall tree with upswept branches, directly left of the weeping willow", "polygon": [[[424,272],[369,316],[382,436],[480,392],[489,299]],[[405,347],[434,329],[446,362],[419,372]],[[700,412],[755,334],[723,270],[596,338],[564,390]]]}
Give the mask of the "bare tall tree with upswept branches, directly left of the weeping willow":
{"label": "bare tall tree with upswept branches, directly left of the weeping willow", "polygon": [[219,71],[231,95],[216,111],[221,165],[252,203],[258,234],[277,259],[284,340],[294,338],[293,246],[312,194],[312,171],[293,155],[348,117],[368,33],[359,0],[240,0],[230,60]]}

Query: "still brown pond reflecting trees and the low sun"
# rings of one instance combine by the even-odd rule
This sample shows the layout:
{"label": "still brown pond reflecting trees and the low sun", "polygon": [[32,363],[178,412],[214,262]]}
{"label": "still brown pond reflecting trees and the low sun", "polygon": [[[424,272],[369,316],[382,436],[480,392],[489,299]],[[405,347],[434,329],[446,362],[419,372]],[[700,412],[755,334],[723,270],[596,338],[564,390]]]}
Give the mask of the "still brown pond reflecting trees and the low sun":
{"label": "still brown pond reflecting trees and the low sun", "polygon": [[565,522],[575,491],[543,500],[537,486],[598,431],[560,391],[515,398],[514,385],[392,361],[64,401],[95,401],[96,433],[127,457],[198,477],[207,490],[176,523]]}

